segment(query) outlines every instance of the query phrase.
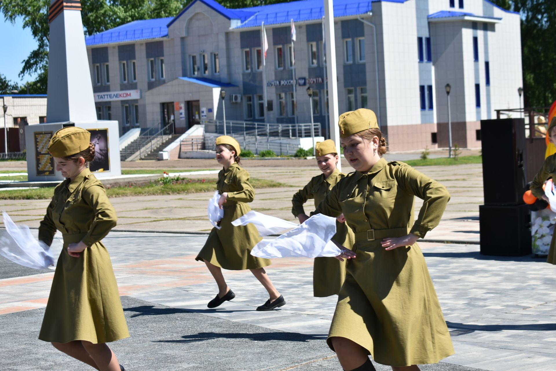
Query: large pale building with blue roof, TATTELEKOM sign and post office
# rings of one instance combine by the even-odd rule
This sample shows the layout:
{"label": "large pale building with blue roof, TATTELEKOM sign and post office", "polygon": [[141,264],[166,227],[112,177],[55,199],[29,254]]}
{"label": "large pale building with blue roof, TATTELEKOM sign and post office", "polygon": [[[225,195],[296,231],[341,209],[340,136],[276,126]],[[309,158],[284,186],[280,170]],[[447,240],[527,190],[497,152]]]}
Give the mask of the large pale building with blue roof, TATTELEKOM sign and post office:
{"label": "large pale building with blue roof, TATTELEKOM sign and post office", "polygon": [[[185,132],[205,116],[222,118],[224,88],[227,119],[307,123],[310,86],[314,121],[325,128],[323,16],[322,0],[244,9],[196,0],[173,18],[90,36],[98,118],[119,121],[121,134],[171,122]],[[495,118],[495,109],[521,106],[518,13],[488,0],[335,0],[334,16],[340,112],[373,109],[391,150],[448,146],[448,83],[460,147],[480,147],[480,120]]]}

